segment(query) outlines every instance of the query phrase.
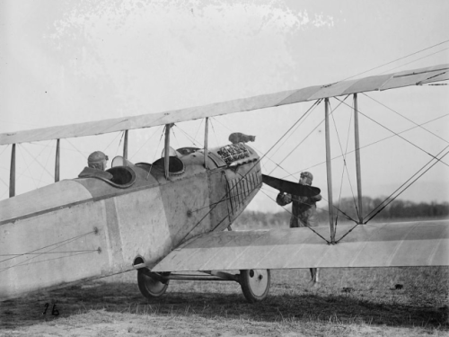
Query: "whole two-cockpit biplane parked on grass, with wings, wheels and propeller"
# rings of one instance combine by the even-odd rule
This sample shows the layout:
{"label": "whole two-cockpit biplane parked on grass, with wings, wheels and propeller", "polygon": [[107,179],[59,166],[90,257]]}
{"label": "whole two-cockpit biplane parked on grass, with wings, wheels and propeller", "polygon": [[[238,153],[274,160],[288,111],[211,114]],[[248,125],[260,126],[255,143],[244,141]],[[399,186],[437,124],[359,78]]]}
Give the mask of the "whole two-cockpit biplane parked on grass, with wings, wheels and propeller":
{"label": "whole two-cockpit biplane parked on grass, with wings, wheels and propeller", "polygon": [[[0,201],[0,299],[60,288],[128,270],[145,297],[163,295],[172,279],[239,282],[249,302],[269,292],[273,269],[449,265],[447,221],[340,225],[333,216],[329,99],[449,79],[449,64],[264,94],[177,111],[0,135],[11,145],[10,198]],[[263,183],[296,195],[320,190],[261,172],[248,144],[208,147],[207,120],[228,113],[323,101],[326,116],[330,228],[233,231]],[[205,119],[205,146],[171,146],[173,123]],[[128,132],[165,126],[154,163],[128,160]],[[105,178],[95,170],[59,181],[59,140],[125,132],[123,155]],[[55,140],[55,182],[15,196],[15,146]],[[356,132],[356,157],[359,149]],[[445,154],[436,155],[439,162]],[[357,183],[360,186],[357,157]],[[359,208],[361,188],[358,189]],[[226,230],[229,229],[229,230]],[[240,270],[240,271],[232,271]],[[189,273],[186,273],[189,271]],[[192,273],[192,271],[194,273]]]}

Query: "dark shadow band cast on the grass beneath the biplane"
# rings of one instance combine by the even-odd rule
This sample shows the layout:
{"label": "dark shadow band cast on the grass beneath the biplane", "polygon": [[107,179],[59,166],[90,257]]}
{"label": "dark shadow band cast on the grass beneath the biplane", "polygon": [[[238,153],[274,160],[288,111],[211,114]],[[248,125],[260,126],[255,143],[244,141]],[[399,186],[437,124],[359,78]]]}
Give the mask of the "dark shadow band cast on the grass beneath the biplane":
{"label": "dark shadow band cast on the grass beneath the biplane", "polygon": [[[75,315],[91,310],[131,315],[197,315],[216,320],[364,323],[449,329],[447,306],[404,306],[377,303],[364,299],[362,294],[321,294],[320,291],[308,290],[287,293],[282,289],[275,289],[265,301],[251,305],[246,302],[236,283],[217,288],[207,285],[199,290],[189,283],[181,286],[171,284],[171,287],[163,297],[152,300],[142,297],[136,284],[119,282],[91,282],[8,300],[0,303],[0,329],[29,326],[63,317],[75,318]],[[214,291],[208,291],[210,288]],[[46,303],[48,310],[43,315]],[[54,304],[58,316],[51,315]]]}

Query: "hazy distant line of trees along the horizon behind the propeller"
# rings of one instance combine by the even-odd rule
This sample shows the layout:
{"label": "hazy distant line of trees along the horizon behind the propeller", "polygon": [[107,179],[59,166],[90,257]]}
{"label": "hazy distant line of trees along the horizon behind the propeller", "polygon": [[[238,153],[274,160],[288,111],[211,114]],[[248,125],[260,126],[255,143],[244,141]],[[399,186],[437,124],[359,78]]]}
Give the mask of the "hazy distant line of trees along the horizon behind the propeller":
{"label": "hazy distant line of trees along the horizon behind the propeller", "polygon": [[[371,222],[449,217],[449,202],[436,203],[432,201],[430,203],[416,203],[407,200],[393,200],[388,206],[383,208],[386,204],[386,202],[383,203],[383,200],[381,198],[372,199],[370,197],[364,197],[362,199],[364,221],[377,212],[379,213],[375,215]],[[347,216],[357,220],[357,200],[354,201],[352,198],[344,198],[339,201],[339,204],[334,205],[334,216],[338,214],[339,222],[350,221]],[[280,206],[280,210],[277,213],[245,210],[234,222],[234,225],[251,227],[288,226],[291,217],[289,213],[291,211],[291,204],[285,208],[288,212]],[[381,210],[381,208],[383,209]],[[346,216],[337,209],[344,212]],[[329,224],[327,203],[325,201],[317,203],[316,217],[321,225]]]}

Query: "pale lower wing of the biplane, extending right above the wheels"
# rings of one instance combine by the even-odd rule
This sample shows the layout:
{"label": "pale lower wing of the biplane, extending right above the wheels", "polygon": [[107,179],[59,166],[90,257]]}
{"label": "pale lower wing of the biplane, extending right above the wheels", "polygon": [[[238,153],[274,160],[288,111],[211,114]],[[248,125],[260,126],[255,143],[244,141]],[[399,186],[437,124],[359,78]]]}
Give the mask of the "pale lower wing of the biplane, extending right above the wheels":
{"label": "pale lower wing of the biplane, extending right above the wheels", "polygon": [[[351,227],[339,226],[339,235]],[[313,229],[329,233],[328,227]],[[304,227],[213,232],[175,249],[153,271],[448,265],[445,220],[360,225],[335,245]]]}

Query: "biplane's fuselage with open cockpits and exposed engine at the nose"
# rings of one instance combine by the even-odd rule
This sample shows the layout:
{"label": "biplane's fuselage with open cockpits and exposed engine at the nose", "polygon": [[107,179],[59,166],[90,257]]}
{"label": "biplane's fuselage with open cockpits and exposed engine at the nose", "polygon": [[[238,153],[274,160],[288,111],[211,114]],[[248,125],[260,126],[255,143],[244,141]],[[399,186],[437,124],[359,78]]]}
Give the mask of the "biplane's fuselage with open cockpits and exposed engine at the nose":
{"label": "biplane's fuselage with open cockpits and exposed engine at the nose", "polygon": [[190,238],[224,230],[262,183],[259,156],[239,146],[210,149],[206,167],[202,150],[180,149],[168,179],[163,158],[121,160],[110,181],[87,173],[0,201],[0,299],[151,269]]}

